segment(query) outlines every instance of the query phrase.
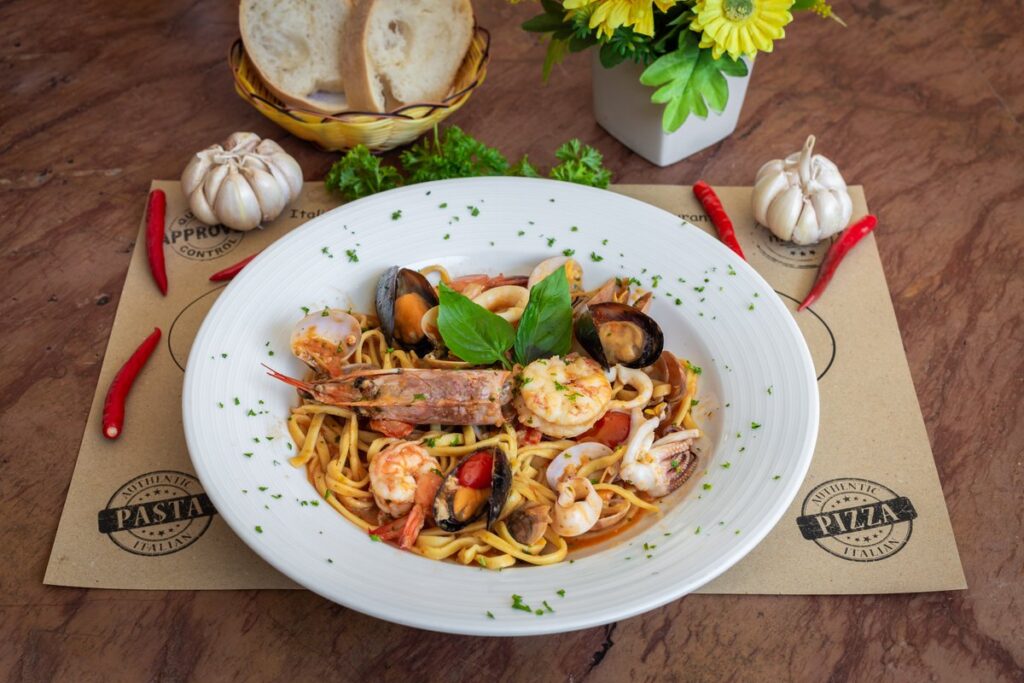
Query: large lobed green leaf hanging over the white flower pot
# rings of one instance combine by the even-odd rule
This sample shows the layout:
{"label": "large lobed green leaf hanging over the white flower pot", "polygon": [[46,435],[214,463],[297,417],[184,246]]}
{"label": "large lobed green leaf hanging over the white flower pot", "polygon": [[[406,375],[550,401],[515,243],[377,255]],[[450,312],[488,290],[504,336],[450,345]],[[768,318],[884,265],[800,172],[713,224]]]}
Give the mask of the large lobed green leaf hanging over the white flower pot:
{"label": "large lobed green leaf hanging over the white flower pot", "polygon": [[707,118],[709,108],[722,113],[729,101],[729,83],[723,76],[745,76],[746,63],[723,55],[715,59],[710,49],[697,47],[696,34],[679,37],[679,47],[644,70],[640,82],[656,87],[650,100],[665,104],[662,127],[673,132],[692,114]]}

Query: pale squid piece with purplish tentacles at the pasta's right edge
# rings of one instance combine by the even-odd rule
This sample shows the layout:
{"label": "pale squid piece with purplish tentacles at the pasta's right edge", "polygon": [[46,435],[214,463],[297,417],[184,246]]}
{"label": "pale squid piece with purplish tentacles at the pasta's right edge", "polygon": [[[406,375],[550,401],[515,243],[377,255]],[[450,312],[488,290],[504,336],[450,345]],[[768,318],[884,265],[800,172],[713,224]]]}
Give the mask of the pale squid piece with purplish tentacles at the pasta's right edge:
{"label": "pale squid piece with purplish tentacles at the pasta's right edge", "polygon": [[673,432],[655,441],[658,418],[644,420],[639,408],[633,409],[632,418],[635,427],[618,476],[653,498],[668,496],[696,470],[697,456],[691,446],[693,439],[700,436],[700,430]]}

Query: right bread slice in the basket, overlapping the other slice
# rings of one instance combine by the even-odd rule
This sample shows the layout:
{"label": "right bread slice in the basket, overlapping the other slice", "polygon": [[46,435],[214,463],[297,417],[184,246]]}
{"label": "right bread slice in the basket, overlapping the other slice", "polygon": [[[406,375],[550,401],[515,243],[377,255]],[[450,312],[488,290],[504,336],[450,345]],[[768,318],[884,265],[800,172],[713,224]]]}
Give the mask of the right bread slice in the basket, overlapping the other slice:
{"label": "right bread slice in the basket, overlapping the other slice", "polygon": [[440,101],[472,39],[470,0],[358,0],[342,41],[349,108]]}

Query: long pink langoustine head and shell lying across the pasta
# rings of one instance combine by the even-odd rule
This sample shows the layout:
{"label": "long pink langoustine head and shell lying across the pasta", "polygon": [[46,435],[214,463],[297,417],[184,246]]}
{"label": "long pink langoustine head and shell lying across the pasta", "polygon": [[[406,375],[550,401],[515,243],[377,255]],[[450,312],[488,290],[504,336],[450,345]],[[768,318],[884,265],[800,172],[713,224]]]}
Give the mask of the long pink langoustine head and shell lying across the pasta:
{"label": "long pink langoustine head and shell lying across the pasta", "polygon": [[321,403],[414,425],[500,426],[512,400],[512,374],[504,370],[349,366],[341,377],[310,382],[267,370]]}

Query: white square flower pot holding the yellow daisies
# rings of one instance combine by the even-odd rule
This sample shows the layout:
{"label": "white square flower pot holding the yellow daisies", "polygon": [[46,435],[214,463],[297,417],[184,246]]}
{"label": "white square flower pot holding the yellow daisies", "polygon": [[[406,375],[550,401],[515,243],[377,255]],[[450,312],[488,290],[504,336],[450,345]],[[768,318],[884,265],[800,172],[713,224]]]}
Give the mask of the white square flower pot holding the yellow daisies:
{"label": "white square flower pot holding the yellow daisies", "polygon": [[620,142],[652,164],[675,164],[725,139],[736,129],[754,70],[754,63],[745,57],[746,76],[725,77],[729,82],[729,101],[724,112],[709,112],[707,119],[691,114],[679,130],[667,133],[662,129],[665,106],[651,102],[654,88],[640,83],[644,68],[624,61],[605,69],[597,50],[592,52],[594,118]]}

